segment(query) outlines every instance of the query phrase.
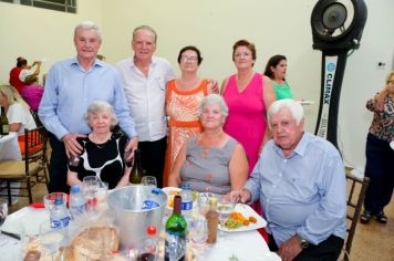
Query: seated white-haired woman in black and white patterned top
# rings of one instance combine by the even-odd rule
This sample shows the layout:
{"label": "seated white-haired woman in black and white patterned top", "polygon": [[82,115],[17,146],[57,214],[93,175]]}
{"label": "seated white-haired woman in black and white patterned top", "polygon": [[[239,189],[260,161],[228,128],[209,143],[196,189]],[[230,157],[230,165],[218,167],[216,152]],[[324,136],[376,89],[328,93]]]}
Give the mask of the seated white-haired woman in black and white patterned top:
{"label": "seated white-haired woman in black and white patterned top", "polygon": [[92,133],[77,138],[83,149],[79,165],[69,164],[68,185],[81,184],[86,176],[97,176],[110,189],[127,185],[131,171],[124,159],[127,137],[112,133],[117,124],[113,107],[104,101],[93,102],[85,119]]}

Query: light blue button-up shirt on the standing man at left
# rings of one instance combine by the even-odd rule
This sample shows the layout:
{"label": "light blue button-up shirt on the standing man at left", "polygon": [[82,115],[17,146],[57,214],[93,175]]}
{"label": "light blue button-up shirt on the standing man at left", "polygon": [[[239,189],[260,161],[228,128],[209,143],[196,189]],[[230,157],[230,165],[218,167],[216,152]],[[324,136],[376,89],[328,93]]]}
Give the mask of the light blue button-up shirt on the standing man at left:
{"label": "light blue button-up shirt on the standing man at left", "polygon": [[136,136],[121,77],[114,66],[97,59],[87,71],[76,58],[55,63],[46,77],[39,116],[59,139],[68,133],[89,134],[91,128],[84,116],[94,101],[110,103],[120,127],[128,137]]}

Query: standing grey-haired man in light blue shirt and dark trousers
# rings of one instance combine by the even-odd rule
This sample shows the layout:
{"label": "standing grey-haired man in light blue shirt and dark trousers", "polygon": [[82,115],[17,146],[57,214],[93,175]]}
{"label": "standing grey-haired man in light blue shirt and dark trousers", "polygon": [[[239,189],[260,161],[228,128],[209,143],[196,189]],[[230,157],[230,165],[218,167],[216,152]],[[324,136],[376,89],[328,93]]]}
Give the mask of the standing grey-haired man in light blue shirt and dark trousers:
{"label": "standing grey-haired man in light blue shirt and dark trousers", "polygon": [[[69,191],[68,157],[81,153],[77,137],[91,133],[84,115],[94,101],[105,101],[115,111],[120,127],[128,136],[128,152],[137,147],[135,124],[116,69],[96,59],[102,39],[97,25],[82,22],[74,30],[76,58],[55,63],[49,71],[39,117],[50,132],[52,147],[49,190]],[[129,154],[128,159],[133,157]]]}

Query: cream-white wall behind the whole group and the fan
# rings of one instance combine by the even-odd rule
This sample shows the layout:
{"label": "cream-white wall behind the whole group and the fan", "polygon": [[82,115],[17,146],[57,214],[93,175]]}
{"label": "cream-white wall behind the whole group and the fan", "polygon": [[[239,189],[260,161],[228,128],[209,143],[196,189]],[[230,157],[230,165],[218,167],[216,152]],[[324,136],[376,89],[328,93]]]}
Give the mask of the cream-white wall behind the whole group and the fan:
{"label": "cream-white wall behind the whole group and the fan", "polygon": [[[317,0],[80,0],[79,13],[64,14],[43,9],[0,3],[0,82],[15,58],[49,58],[50,62],[74,55],[72,33],[82,20],[103,29],[103,53],[107,61],[131,56],[135,27],[149,24],[158,33],[157,55],[177,69],[176,58],[187,44],[204,56],[200,75],[222,81],[235,72],[231,46],[239,39],[256,43],[261,72],[269,56],[288,56],[290,82],[296,98],[315,101],[305,107],[307,129],[314,132],[319,109],[321,52],[312,50],[311,11]],[[393,0],[365,0],[369,19],[361,48],[348,60],[339,115],[339,146],[348,165],[364,166],[364,146],[372,114],[366,100],[382,88],[394,51]],[[20,22],[19,22],[20,21]],[[14,24],[20,25],[14,25]],[[11,24],[13,24],[11,27]],[[33,28],[24,30],[23,28]],[[385,70],[376,70],[377,62]],[[44,64],[44,71],[50,65]]]}

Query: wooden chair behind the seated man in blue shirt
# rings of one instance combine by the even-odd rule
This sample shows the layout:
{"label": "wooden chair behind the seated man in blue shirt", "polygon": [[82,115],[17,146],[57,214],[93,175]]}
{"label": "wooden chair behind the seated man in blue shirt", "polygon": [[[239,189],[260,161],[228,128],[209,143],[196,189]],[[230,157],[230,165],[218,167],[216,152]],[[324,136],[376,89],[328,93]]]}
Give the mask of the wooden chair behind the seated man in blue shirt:
{"label": "wooden chair behind the seated man in blue shirt", "polygon": [[346,218],[350,221],[348,228],[348,238],[344,243],[344,260],[350,260],[350,250],[357,227],[361,209],[363,207],[366,188],[370,184],[370,178],[357,178],[351,174],[346,174],[348,181],[348,215]]}

